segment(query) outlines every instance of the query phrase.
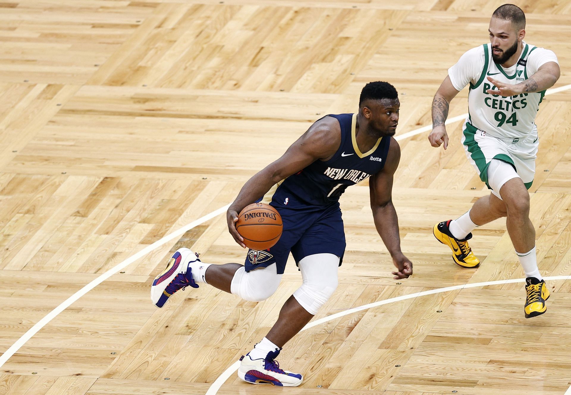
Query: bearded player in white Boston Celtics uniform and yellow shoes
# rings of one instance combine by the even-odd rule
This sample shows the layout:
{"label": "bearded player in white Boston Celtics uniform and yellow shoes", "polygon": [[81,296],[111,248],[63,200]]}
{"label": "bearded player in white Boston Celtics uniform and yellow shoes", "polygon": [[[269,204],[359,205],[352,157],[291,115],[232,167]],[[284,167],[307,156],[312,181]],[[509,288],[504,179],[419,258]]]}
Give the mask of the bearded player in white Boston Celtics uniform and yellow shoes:
{"label": "bearded player in white Boston Celtics uniform and yellow shoes", "polygon": [[560,76],[556,55],[524,41],[525,14],[504,4],[492,14],[490,43],[467,51],[448,70],[432,102],[433,147],[448,147],[444,121],[450,101],[469,84],[468,118],[462,143],[469,162],[491,191],[455,220],[433,228],[453,251],[454,261],[475,268],[480,261],[468,245],[472,229],[500,217],[526,275],[525,317],[545,313],[549,290],[537,268],[529,193],[538,138],[534,123],[545,90]]}

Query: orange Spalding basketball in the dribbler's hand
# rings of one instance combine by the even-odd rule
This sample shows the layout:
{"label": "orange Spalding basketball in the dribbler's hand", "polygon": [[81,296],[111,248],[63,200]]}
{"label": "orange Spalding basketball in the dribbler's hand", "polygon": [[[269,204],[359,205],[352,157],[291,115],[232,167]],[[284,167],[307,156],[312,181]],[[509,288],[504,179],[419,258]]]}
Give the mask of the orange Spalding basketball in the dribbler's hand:
{"label": "orange Spalding basketball in the dribbler's hand", "polygon": [[252,203],[238,215],[236,230],[251,249],[268,249],[282,236],[282,217],[271,205]]}

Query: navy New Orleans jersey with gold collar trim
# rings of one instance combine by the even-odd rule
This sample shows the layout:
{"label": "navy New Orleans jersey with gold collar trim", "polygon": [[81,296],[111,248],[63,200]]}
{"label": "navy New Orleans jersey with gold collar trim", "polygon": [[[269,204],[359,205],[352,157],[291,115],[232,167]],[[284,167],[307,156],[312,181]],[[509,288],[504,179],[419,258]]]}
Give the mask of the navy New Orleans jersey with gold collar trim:
{"label": "navy New Orleans jersey with gold collar trim", "polygon": [[391,143],[390,137],[380,138],[371,150],[361,153],[355,135],[357,114],[326,116],[336,118],[341,126],[339,149],[331,159],[316,160],[299,173],[283,180],[278,187],[280,195],[292,194],[311,205],[328,205],[339,201],[348,186],[383,169]]}

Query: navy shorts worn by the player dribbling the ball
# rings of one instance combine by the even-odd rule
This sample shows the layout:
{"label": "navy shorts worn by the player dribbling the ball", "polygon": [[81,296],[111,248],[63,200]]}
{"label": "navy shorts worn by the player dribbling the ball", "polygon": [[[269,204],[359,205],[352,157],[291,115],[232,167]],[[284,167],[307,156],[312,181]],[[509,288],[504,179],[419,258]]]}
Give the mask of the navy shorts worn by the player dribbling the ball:
{"label": "navy shorts worn by the player dribbling the ball", "polygon": [[289,252],[296,264],[309,255],[332,253],[341,258],[341,265],[345,253],[345,231],[339,202],[325,206],[308,205],[278,190],[270,205],[282,216],[282,237],[270,249],[250,249],[244,265],[247,272],[275,263],[278,274],[282,274]]}

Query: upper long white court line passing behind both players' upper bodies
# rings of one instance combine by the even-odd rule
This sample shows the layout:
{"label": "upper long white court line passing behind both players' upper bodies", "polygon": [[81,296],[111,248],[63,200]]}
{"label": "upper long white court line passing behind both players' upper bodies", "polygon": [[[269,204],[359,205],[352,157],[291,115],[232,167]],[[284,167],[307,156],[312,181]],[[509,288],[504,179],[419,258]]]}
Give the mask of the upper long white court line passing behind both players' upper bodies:
{"label": "upper long white court line passing behind both players' upper bodies", "polygon": [[[566,91],[571,89],[571,84],[568,85],[564,85],[564,86],[560,86],[558,88],[551,88],[548,89],[545,92],[545,95],[551,95],[551,94],[555,94],[558,92],[562,92],[562,91]],[[468,116],[468,113],[462,114],[462,115],[457,115],[454,116],[453,118],[447,119],[445,124],[450,124],[453,122],[458,122],[459,120],[465,118],[466,116]],[[427,125],[427,126],[423,126],[420,128],[417,128],[415,130],[409,131],[407,133],[404,133],[402,135],[399,136],[395,136],[395,139],[398,140],[403,140],[405,138],[409,138],[415,135],[418,135],[420,133],[426,132],[428,130],[432,129],[432,124]],[[97,285],[103,283],[103,281],[107,280],[109,277],[111,277],[112,275],[114,275],[115,273],[119,272],[121,269],[126,268],[128,265],[130,265],[131,263],[133,263],[134,261],[138,260],[139,258],[147,255],[148,253],[150,253],[151,251],[154,251],[156,248],[160,247],[161,245],[167,243],[168,241],[174,239],[175,237],[178,236],[182,236],[185,232],[189,231],[190,229],[203,224],[204,222],[220,215],[221,213],[223,213],[224,211],[226,211],[228,209],[228,207],[230,207],[230,203],[227,205],[224,205],[223,207],[220,207],[218,209],[216,209],[215,211],[212,211],[210,213],[208,213],[207,215],[204,215],[203,217],[200,217],[199,219],[192,221],[190,224],[187,224],[181,228],[179,228],[178,230],[170,233],[169,235],[166,235],[164,237],[162,237],[162,239],[155,241],[155,243],[152,243],[151,245],[148,245],[147,247],[143,248],[141,251],[136,252],[134,255],[128,257],[126,260],[122,261],[121,263],[115,265],[115,267],[112,267],[111,269],[109,269],[108,271],[106,271],[105,273],[103,273],[102,275],[100,275],[99,277],[96,277],[94,280],[92,280],[89,284],[85,285],[84,287],[82,287],[81,289],[79,289],[79,291],[75,292],[73,295],[71,295],[70,297],[68,297],[65,301],[63,301],[61,304],[58,305],[58,307],[54,308],[52,311],[50,311],[49,313],[47,313],[46,316],[44,316],[41,320],[39,320],[37,323],[35,323],[33,325],[33,327],[31,327],[30,329],[28,329],[26,331],[26,333],[24,333],[21,337],[18,338],[17,341],[14,342],[13,345],[11,345],[3,354],[2,356],[0,356],[0,368],[2,368],[2,366],[10,359],[11,356],[13,356],[20,348],[22,348],[22,346],[24,344],[26,344],[26,342],[28,340],[30,340],[31,337],[34,336],[34,334],[38,333],[40,329],[42,329],[43,327],[45,327],[47,324],[50,323],[51,320],[53,320],[55,317],[57,317],[59,315],[59,313],[61,313],[62,311],[64,311],[66,308],[70,307],[71,304],[73,304],[75,301],[77,301],[79,298],[81,298],[83,295],[85,295],[87,292],[91,291],[91,289],[95,288]],[[339,314],[339,313],[337,313]],[[319,320],[317,320],[319,321]],[[315,322],[317,322],[315,321]],[[317,324],[316,324],[317,325]],[[305,327],[304,327],[305,329]],[[302,329],[303,330],[303,329]],[[213,395],[216,392],[218,392],[218,389],[216,389],[215,392],[211,392],[211,388],[214,386],[215,383],[218,382],[218,380],[220,379],[220,377],[216,378],[216,380],[212,383],[211,387],[208,389],[208,391],[206,392],[206,395]],[[226,380],[224,380],[226,381]],[[224,383],[224,381],[222,383],[220,383],[220,386],[222,386],[222,384]],[[220,387],[219,387],[220,388]],[[571,395],[571,386],[569,387],[569,389],[565,392],[565,395]]]}

